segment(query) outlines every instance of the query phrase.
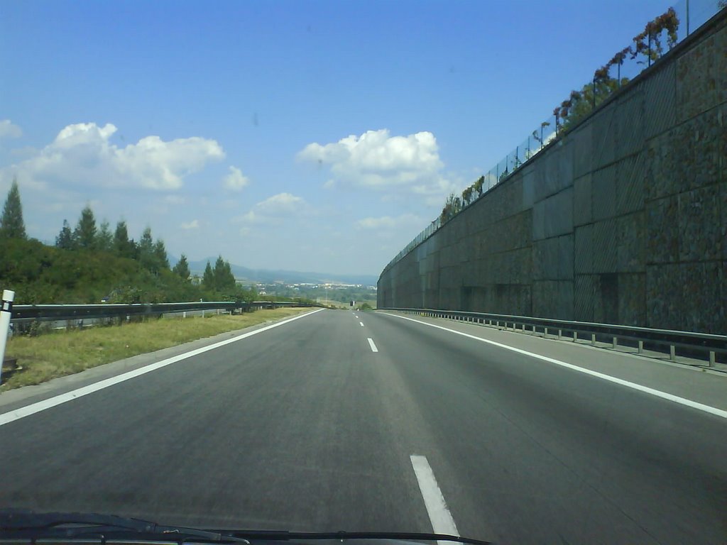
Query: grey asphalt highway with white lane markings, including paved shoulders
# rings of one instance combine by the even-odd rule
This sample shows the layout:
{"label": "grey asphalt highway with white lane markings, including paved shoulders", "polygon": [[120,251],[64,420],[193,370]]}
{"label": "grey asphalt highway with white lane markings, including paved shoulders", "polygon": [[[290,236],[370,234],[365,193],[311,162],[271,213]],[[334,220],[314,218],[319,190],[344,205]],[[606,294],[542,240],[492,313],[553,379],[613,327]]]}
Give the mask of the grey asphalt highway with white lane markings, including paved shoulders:
{"label": "grey asphalt highway with white lane markings, including paved shoulders", "polygon": [[503,544],[727,542],[726,376],[348,310],[134,361],[0,395],[0,506]]}

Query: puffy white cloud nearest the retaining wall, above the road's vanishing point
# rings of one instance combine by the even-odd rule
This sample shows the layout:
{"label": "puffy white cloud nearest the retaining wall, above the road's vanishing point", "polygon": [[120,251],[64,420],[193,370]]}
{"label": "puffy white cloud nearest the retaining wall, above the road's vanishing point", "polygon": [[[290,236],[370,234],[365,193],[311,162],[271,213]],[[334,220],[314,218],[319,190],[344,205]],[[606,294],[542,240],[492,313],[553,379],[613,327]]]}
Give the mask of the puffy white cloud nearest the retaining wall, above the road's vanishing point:
{"label": "puffy white cloud nearest the retaining wall, above the road's vanishing point", "polygon": [[390,136],[388,129],[367,131],[325,145],[308,144],[297,158],[328,166],[332,174],[324,185],[328,188],[342,184],[443,195],[451,186],[441,174],[444,163],[431,132]]}

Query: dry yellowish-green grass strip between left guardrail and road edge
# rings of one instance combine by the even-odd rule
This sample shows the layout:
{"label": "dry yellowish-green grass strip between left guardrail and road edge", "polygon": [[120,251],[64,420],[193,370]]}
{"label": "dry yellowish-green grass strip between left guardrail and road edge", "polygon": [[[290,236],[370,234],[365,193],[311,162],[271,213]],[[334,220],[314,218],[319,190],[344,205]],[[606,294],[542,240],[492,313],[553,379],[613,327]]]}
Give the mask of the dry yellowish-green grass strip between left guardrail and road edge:
{"label": "dry yellowish-green grass strip between left guardrail and road edge", "polygon": [[213,315],[208,318],[161,318],[123,326],[87,328],[83,331],[56,331],[35,337],[8,339],[6,357],[17,358],[23,368],[0,387],[0,392],[40,384],[57,376],[84,371],[137,354],[153,352],[176,344],[203,339],[225,331],[279,320],[310,309],[278,308],[243,315]]}

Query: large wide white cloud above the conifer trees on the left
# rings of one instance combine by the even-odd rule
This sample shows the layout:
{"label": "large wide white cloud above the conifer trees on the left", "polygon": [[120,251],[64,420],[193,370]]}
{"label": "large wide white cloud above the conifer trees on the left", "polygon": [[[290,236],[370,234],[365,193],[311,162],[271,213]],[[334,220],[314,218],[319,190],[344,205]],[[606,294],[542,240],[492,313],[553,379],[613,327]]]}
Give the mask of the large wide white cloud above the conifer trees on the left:
{"label": "large wide white cloud above the conifer trees on the left", "polygon": [[219,161],[225,152],[201,137],[164,141],[148,136],[120,148],[110,141],[116,126],[79,123],[66,126],[31,158],[3,169],[5,176],[36,183],[53,181],[106,187],[175,190],[183,179]]}

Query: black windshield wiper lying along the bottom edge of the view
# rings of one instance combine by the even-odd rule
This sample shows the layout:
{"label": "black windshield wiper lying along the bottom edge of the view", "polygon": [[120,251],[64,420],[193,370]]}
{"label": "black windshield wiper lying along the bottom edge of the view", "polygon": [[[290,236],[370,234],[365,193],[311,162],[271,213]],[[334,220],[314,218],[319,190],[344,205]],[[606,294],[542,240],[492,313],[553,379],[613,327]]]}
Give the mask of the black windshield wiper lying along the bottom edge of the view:
{"label": "black windshield wiper lying along the bottom edge of the view", "polygon": [[0,510],[0,540],[9,538],[133,538],[136,541],[187,541],[244,543],[251,541],[314,541],[325,539],[388,539],[395,541],[456,541],[468,545],[492,545],[441,533],[416,532],[289,532],[287,530],[198,530],[163,526],[148,520],[97,513],[36,513]]}

